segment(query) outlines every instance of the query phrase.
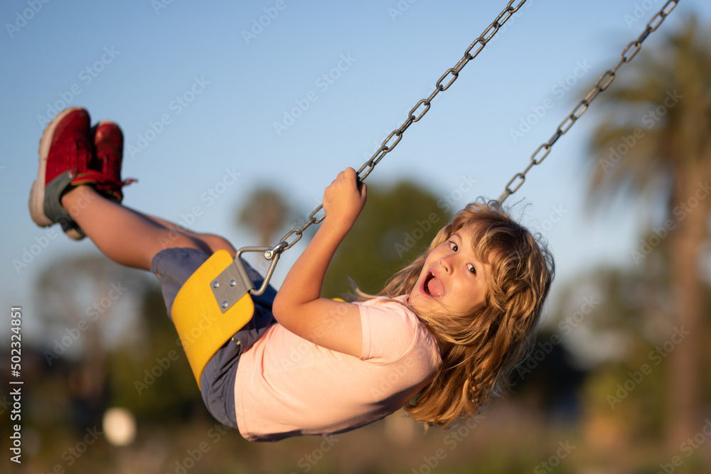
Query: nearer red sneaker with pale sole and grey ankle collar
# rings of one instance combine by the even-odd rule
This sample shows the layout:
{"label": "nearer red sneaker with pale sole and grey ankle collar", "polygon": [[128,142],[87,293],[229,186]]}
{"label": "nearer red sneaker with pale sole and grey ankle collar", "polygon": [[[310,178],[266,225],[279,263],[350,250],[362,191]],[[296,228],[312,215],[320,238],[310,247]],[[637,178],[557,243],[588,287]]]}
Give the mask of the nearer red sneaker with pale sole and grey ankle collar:
{"label": "nearer red sneaker with pale sole and grey ankle collar", "polygon": [[70,185],[96,184],[102,180],[92,155],[89,113],[81,107],[65,109],[53,119],[40,140],[40,165],[37,181],[30,191],[30,215],[41,227],[59,222],[73,239],[81,232],[61,198]]}

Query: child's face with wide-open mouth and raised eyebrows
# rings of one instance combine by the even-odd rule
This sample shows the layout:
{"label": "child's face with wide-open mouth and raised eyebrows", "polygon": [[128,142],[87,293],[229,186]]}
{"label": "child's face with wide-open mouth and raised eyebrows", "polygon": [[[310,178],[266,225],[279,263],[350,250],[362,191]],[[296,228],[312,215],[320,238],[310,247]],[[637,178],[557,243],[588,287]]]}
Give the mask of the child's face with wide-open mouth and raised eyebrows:
{"label": "child's face with wide-open mouth and raised eyebrows", "polygon": [[442,305],[469,312],[484,302],[491,265],[481,262],[472,247],[473,232],[462,227],[427,255],[410,304],[415,310],[442,311]]}

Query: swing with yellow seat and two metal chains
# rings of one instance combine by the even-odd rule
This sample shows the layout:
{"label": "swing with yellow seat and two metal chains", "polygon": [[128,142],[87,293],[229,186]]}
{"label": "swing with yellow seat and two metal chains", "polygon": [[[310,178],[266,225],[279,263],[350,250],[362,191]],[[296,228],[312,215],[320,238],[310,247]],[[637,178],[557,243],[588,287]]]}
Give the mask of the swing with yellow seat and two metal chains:
{"label": "swing with yellow seat and two metal chains", "polygon": [[[380,149],[375,151],[373,156],[366,161],[358,170],[358,180],[363,181],[373,171],[375,165],[382,160],[387,153],[397,146],[402,139],[402,134],[405,130],[419,119],[424,117],[424,114],[429,111],[430,104],[439,92],[449,89],[454,83],[459,72],[464,66],[483,50],[486,44],[491,41],[491,38],[498,32],[508,18],[515,14],[520,7],[525,4],[526,0],[521,0],[516,6],[513,0],[508,2],[503,11],[496,17],[486,29],[481,33],[479,38],[476,38],[474,43],[469,45],[469,48],[464,52],[464,56],[454,65],[449,68],[437,80],[435,87],[429,97],[421,99],[415,107],[412,107],[407,119],[402,123],[400,128],[393,130],[390,135],[380,145]],[[577,104],[572,113],[558,126],[555,134],[545,144],[542,144],[538,150],[533,153],[530,158],[529,165],[521,173],[516,173],[506,185],[506,190],[499,198],[503,202],[509,195],[513,194],[523,185],[526,173],[535,165],[540,164],[545,157],[550,153],[550,148],[555,144],[557,139],[567,132],[572,124],[587,110],[590,102],[597,95],[606,90],[614,80],[617,69],[623,63],[629,63],[634,58],[641,48],[641,43],[647,38],[649,33],[655,31],[664,21],[664,18],[674,9],[678,0],[669,0],[665,6],[656,14],[647,24],[645,31],[635,40],[629,43],[621,54],[619,63],[611,70],[606,71],[595,83],[592,91]],[[476,48],[476,50],[474,49]],[[634,48],[634,49],[632,49]],[[517,183],[515,183],[518,180]],[[512,185],[515,185],[512,188]],[[321,204],[309,215],[309,220],[306,224],[299,228],[289,230],[284,237],[274,247],[242,247],[237,251],[234,261],[228,252],[220,250],[215,252],[208,260],[206,260],[191,277],[186,281],[181,290],[178,292],[172,307],[173,323],[176,325],[178,335],[181,337],[183,348],[186,350],[188,361],[193,370],[193,375],[198,382],[201,383],[201,375],[205,365],[213,357],[215,352],[223,344],[225,344],[235,333],[237,333],[243,325],[245,325],[254,314],[254,303],[251,296],[259,296],[267,289],[269,279],[274,273],[274,268],[279,261],[279,255],[284,250],[292,247],[296,242],[299,242],[301,236],[309,226],[318,224],[323,221],[326,214],[318,216],[319,211],[324,208]],[[289,238],[294,236],[291,242]],[[267,270],[264,281],[259,289],[255,289],[254,283],[242,262],[241,255],[245,252],[263,252],[264,258],[269,260],[269,269]],[[217,276],[215,276],[217,275]],[[234,339],[233,339],[234,340]]]}

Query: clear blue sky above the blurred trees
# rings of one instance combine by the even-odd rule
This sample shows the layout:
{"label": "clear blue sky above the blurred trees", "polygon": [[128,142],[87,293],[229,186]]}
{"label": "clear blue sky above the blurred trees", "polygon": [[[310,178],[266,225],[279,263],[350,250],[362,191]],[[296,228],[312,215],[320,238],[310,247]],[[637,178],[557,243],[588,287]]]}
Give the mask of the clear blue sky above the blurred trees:
{"label": "clear blue sky above the blurred trees", "polygon": [[[368,182],[409,178],[458,206],[498,197],[582,98],[580,86],[614,65],[662,4],[529,0]],[[43,267],[96,252],[90,242],[46,238],[28,215],[38,140],[53,109],[80,105],[94,122],[122,126],[124,177],[139,179],[124,190],[124,203],[223,234],[238,247],[253,244],[232,217],[251,190],[272,183],[310,212],[336,173],[358,168],[504,5],[3,2],[0,301],[22,305],[31,320]],[[644,48],[691,12],[708,24],[711,5],[681,1]],[[634,266],[640,229],[654,222],[625,200],[594,217],[584,212],[587,143],[598,113],[593,104],[512,198],[528,203],[518,214],[549,240],[559,287],[599,264]],[[530,127],[521,128],[526,120]],[[17,269],[13,260],[38,242],[46,248]],[[277,282],[302,248],[284,255]]]}

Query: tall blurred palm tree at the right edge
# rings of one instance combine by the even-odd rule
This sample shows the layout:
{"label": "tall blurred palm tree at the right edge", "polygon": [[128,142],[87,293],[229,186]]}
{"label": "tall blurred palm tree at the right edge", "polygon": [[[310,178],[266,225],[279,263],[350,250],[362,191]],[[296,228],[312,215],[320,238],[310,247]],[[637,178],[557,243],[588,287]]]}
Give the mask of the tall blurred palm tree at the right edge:
{"label": "tall blurred palm tree at the right edge", "polygon": [[[668,357],[667,442],[670,447],[698,431],[702,298],[700,252],[711,211],[711,37],[695,17],[661,47],[644,51],[623,77],[600,96],[605,117],[594,131],[592,202],[626,192],[648,203],[663,198],[665,217],[638,249],[637,264],[663,244],[674,314],[672,326],[688,333]],[[623,81],[622,77],[619,81]]]}

